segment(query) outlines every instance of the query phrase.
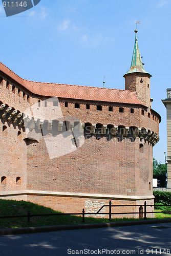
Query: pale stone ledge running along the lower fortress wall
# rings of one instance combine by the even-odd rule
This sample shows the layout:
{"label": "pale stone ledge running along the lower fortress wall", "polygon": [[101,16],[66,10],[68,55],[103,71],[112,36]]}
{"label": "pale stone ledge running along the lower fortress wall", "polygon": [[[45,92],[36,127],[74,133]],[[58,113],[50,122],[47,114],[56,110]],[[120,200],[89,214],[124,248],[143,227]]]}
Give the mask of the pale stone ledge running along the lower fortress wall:
{"label": "pale stone ledge running along the lower fortress wall", "polygon": [[39,190],[16,190],[16,191],[0,191],[1,197],[8,196],[53,196],[53,197],[78,197],[78,198],[100,198],[100,199],[120,199],[120,200],[150,200],[155,197],[152,196],[124,196],[124,195],[105,195],[105,194],[87,194],[87,193],[70,193],[58,191],[39,191]]}

